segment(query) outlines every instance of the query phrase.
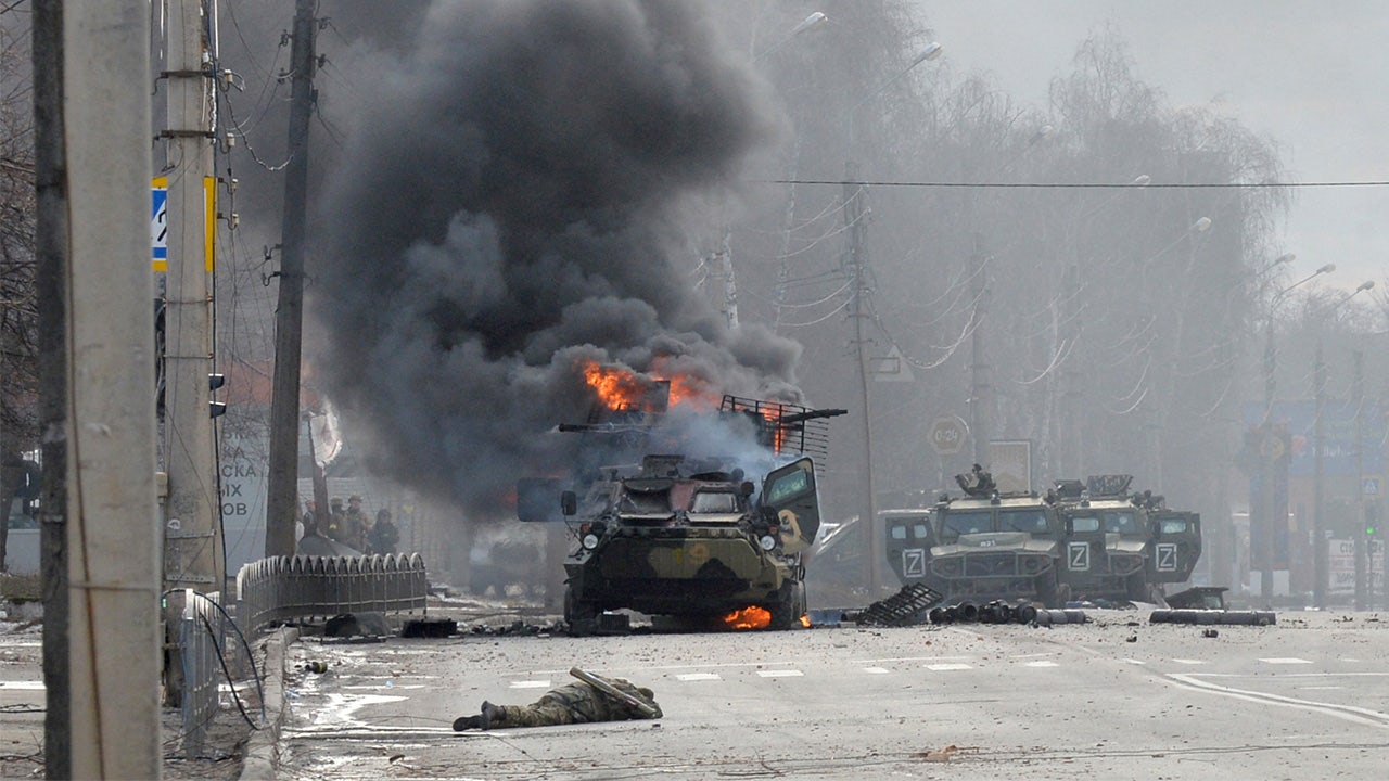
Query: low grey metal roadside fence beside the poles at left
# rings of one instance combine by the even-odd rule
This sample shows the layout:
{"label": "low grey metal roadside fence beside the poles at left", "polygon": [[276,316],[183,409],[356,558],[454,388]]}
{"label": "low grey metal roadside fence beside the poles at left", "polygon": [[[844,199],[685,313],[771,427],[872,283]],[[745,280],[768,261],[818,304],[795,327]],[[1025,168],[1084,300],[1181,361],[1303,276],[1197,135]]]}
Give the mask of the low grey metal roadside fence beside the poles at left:
{"label": "low grey metal roadside fence beside the poles at left", "polygon": [[[207,730],[221,706],[222,680],[250,678],[247,684],[260,685],[249,638],[272,623],[292,618],[424,611],[429,581],[418,553],[276,556],[242,567],[236,574],[232,611],[222,607],[221,593],[192,589],[183,593],[179,627],[183,753],[193,759],[201,753]],[[264,710],[260,718],[264,723]]]}

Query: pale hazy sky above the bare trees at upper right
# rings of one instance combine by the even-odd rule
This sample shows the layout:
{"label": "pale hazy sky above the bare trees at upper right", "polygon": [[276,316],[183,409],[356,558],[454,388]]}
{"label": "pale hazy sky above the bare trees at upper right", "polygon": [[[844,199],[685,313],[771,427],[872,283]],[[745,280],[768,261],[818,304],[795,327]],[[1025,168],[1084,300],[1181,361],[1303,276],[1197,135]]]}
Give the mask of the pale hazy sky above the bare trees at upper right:
{"label": "pale hazy sky above the bare trees at upper right", "polygon": [[[1104,25],[1172,106],[1224,104],[1271,139],[1295,182],[1389,181],[1389,1],[921,0],[950,65],[1045,107]],[[1300,188],[1278,240],[1290,279],[1389,283],[1389,186]]]}

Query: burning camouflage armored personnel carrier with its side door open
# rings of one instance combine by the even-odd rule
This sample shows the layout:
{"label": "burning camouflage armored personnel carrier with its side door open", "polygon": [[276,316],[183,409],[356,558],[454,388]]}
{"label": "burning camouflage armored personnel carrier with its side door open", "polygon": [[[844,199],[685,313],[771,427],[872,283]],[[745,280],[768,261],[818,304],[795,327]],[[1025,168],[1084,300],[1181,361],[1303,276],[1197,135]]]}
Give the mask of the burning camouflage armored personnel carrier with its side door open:
{"label": "burning camouflage armored personnel carrier with its side door open", "polygon": [[[632,413],[632,410],[626,410]],[[804,552],[820,529],[815,467],[826,418],[843,410],[724,396],[707,425],[756,443],[757,457],[649,453],[656,434],[619,410],[607,421],[561,427],[597,449],[636,456],[553,491],[519,486],[522,521],[547,520],[553,500],[574,538],[564,561],[564,618],[590,634],[604,611],[629,609],[732,628],[800,625],[806,616]],[[614,438],[622,446],[613,449]],[[689,445],[693,450],[693,445]]]}

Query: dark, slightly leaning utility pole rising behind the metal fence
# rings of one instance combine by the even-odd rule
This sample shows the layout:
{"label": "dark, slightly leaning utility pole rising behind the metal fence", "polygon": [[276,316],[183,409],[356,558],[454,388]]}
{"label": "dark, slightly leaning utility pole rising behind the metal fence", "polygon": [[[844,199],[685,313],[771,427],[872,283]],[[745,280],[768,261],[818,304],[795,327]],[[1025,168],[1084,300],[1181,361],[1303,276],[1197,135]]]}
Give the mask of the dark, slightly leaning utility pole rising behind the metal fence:
{"label": "dark, slightly leaning utility pole rising behind the metal fence", "polygon": [[290,46],[289,164],[281,228],[275,374],[271,379],[265,554],[294,553],[299,516],[299,363],[304,328],[304,224],[308,211],[308,121],[314,111],[314,6],[294,3]]}

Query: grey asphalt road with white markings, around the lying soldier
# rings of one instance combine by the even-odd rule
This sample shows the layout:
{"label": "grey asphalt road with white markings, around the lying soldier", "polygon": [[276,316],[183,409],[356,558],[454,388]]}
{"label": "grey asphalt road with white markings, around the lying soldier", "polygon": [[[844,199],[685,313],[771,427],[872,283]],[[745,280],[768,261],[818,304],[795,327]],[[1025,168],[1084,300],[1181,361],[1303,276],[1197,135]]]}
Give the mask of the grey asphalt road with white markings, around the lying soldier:
{"label": "grey asphalt road with white markings, around the lying soldier", "polygon": [[[279,778],[1376,778],[1389,618],[1274,627],[813,628],[569,638],[300,638]],[[651,687],[660,721],[451,731],[568,670]]]}

